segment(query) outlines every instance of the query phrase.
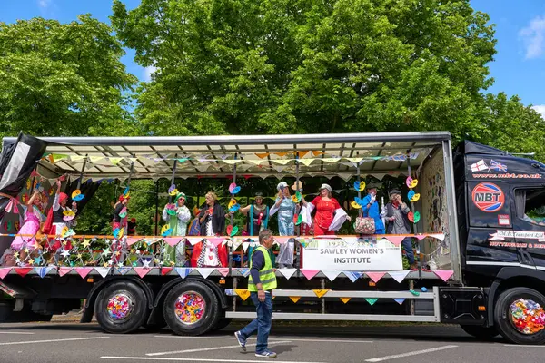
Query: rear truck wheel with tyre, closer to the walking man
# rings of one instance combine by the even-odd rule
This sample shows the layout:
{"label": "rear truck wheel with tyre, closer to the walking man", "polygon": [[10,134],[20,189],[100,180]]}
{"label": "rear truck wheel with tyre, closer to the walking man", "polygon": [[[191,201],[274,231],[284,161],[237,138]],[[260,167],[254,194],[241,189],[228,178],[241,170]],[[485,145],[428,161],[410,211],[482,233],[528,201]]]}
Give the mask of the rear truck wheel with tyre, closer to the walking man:
{"label": "rear truck wheel with tyre, closer to the walking man", "polygon": [[201,335],[220,319],[218,299],[205,284],[184,281],[175,285],[164,299],[164,320],[179,335]]}

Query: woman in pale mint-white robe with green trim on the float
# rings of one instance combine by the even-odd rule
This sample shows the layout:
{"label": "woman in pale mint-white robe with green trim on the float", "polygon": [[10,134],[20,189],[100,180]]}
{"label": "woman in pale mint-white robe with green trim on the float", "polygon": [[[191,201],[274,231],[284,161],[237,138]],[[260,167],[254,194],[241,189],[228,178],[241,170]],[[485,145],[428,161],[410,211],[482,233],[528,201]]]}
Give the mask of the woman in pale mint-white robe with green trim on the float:
{"label": "woman in pale mint-white robe with green trim on the float", "polygon": [[[174,203],[168,203],[163,208],[163,221],[168,222],[172,230],[171,236],[185,236],[187,233],[187,223],[191,220],[191,211],[185,205],[185,194],[179,192],[174,199]],[[164,261],[170,263],[173,261],[176,266],[183,266],[185,262],[185,243],[182,241],[172,247],[166,245]]]}

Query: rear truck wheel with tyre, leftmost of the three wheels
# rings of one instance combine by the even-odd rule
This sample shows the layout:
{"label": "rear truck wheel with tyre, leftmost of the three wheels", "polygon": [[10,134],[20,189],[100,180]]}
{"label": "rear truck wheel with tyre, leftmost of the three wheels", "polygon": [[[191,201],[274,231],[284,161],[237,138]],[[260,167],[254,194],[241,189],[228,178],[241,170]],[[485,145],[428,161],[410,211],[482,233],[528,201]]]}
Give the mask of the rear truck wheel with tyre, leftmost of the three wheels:
{"label": "rear truck wheel with tyre, leftmost of the three wheels", "polygon": [[140,328],[148,319],[144,290],[131,281],[106,286],[94,303],[96,321],[108,333],[125,334]]}

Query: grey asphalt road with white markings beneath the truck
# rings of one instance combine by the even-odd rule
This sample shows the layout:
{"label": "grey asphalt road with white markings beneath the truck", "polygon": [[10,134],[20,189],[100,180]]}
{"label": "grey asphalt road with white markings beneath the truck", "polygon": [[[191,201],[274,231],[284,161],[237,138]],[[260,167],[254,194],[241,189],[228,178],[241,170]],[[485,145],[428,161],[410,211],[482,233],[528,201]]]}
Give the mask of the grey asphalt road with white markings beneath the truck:
{"label": "grey asphalt road with white markings beneath the truck", "polygon": [[282,327],[273,328],[270,348],[278,358],[254,356],[255,340],[243,353],[237,327],[203,337],[170,330],[105,334],[96,324],[0,324],[1,363],[127,362],[479,362],[545,361],[545,346],[512,346],[501,338],[479,342],[458,327]]}

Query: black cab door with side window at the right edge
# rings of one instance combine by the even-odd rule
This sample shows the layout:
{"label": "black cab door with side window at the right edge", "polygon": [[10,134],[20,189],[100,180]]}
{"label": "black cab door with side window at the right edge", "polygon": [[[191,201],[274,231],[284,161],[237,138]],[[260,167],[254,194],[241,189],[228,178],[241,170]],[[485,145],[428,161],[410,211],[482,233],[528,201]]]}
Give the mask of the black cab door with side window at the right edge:
{"label": "black cab door with side window at the right edge", "polygon": [[514,240],[520,266],[545,270],[545,187],[514,188]]}

